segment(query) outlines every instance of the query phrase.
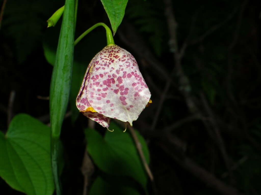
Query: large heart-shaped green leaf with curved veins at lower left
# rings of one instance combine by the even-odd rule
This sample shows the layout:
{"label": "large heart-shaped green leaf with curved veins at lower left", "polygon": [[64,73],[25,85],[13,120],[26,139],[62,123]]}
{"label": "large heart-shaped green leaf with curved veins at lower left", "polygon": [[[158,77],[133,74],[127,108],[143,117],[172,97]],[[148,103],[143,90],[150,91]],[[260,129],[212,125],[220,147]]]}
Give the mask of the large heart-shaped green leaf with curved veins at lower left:
{"label": "large heart-shaped green leaf with curved veins at lower left", "polygon": [[26,114],[16,115],[8,132],[0,132],[0,176],[28,195],[54,192],[50,127]]}

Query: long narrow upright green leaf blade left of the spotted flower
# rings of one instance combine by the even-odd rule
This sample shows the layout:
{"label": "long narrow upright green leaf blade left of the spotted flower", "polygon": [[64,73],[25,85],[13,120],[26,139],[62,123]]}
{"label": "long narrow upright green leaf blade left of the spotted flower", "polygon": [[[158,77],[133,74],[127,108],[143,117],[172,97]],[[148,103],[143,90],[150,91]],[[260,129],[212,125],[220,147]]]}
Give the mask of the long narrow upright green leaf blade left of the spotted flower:
{"label": "long narrow upright green leaf blade left of the spotted flower", "polygon": [[58,140],[68,106],[72,80],[74,9],[74,0],[66,0],[50,87],[51,162],[57,195],[61,194],[58,175]]}

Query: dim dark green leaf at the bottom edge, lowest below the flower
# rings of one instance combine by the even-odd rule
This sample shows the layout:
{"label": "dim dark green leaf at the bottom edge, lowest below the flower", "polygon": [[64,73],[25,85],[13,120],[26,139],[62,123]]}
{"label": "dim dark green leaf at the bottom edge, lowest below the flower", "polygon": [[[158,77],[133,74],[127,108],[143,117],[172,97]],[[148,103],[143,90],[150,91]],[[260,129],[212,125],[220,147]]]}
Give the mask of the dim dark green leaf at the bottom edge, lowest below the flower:
{"label": "dim dark green leaf at the bottom edge, lowest below the flower", "polygon": [[90,195],[139,195],[140,193],[134,189],[132,186],[128,185],[128,179],[122,178],[120,180],[119,178],[115,178],[111,176],[110,178],[102,178],[98,176],[90,189],[89,194]]}

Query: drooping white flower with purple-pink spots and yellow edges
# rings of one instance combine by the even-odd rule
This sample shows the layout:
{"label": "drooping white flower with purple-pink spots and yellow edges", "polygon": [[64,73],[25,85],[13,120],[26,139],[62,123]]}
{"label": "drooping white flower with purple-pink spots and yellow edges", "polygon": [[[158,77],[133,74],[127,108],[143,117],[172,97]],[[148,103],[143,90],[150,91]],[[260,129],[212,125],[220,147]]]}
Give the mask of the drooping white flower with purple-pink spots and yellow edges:
{"label": "drooping white flower with purple-pink spots and yellow edges", "polygon": [[107,129],[110,118],[132,126],[132,121],[151,103],[150,96],[133,55],[109,44],[91,60],[76,106],[82,114]]}

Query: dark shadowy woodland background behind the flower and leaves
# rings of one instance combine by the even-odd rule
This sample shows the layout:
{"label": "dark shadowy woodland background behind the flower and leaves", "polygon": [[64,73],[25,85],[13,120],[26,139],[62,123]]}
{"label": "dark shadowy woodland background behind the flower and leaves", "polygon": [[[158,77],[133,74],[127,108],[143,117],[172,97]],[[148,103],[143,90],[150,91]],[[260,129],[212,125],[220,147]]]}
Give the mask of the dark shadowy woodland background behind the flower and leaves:
{"label": "dark shadowy woodland background behind the flower and leaves", "polygon": [[[3,1],[0,1],[1,5]],[[61,20],[46,20],[64,1],[8,0],[0,29],[0,129],[12,115],[49,122],[52,66]],[[133,54],[153,103],[134,127],[150,150],[151,194],[261,194],[260,1],[129,0],[115,43]],[[97,22],[110,26],[98,0],[79,0],[77,38]],[[87,68],[106,44],[102,27],[75,48]],[[70,111],[70,107],[68,107]],[[83,129],[87,119],[64,121],[64,194],[82,194]],[[96,128],[105,130],[96,125]],[[91,176],[102,174],[97,167]],[[2,179],[1,194],[21,194]]]}

